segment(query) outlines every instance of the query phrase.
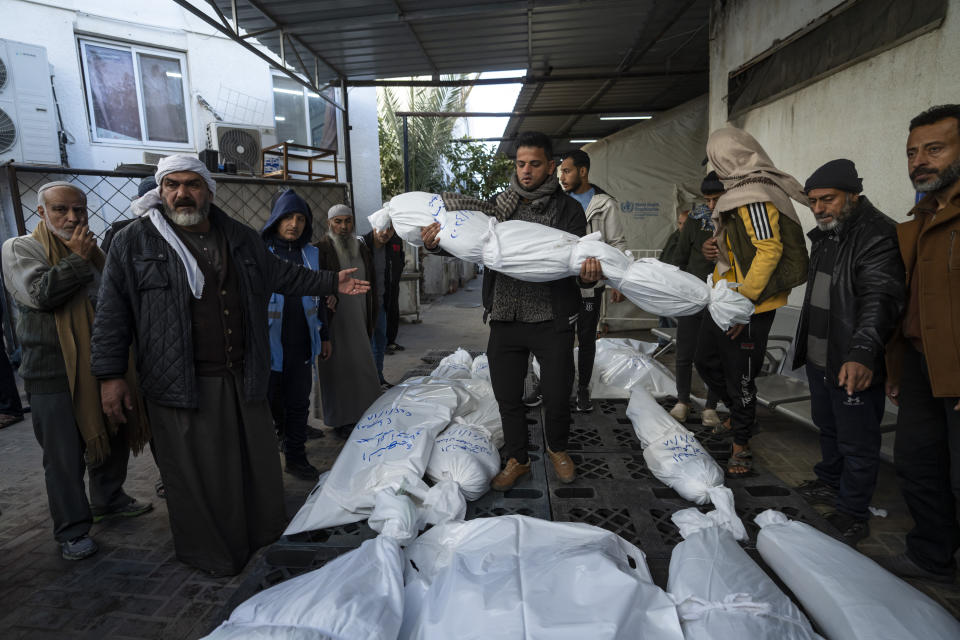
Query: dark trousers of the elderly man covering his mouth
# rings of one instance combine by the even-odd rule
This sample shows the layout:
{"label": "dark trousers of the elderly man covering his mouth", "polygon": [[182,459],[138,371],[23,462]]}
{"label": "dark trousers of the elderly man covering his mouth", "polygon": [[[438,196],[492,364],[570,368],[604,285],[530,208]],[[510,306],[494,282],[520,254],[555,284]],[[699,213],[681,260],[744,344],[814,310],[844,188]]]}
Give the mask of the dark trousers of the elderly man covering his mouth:
{"label": "dark trousers of the elderly man covering his mouth", "polygon": [[[53,537],[57,542],[79,538],[93,524],[91,505],[106,511],[130,502],[130,496],[123,491],[130,449],[123,436],[114,436],[110,438],[107,459],[88,468],[70,392],[33,393],[30,404],[33,432],[43,449],[43,478],[53,518]],[[83,486],[84,471],[90,476],[89,502]]]}

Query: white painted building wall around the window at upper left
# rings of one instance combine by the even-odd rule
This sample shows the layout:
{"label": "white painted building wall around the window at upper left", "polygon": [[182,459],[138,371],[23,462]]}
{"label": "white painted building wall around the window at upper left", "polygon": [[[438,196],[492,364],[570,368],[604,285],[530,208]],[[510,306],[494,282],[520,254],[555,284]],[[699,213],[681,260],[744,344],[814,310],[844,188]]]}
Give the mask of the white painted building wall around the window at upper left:
{"label": "white painted building wall around the window at upper left", "polygon": [[[173,2],[0,0],[0,16],[0,38],[47,49],[64,128],[75,140],[67,147],[73,167],[112,170],[120,163],[142,163],[144,151],[184,152],[91,141],[77,45],[81,35],[185,52],[194,147],[187,151],[196,152],[206,146],[206,125],[214,120],[197,103],[198,95],[214,106],[224,89],[250,96],[261,101],[262,108],[258,116],[243,124],[274,124],[269,65]],[[376,90],[353,89],[349,101],[354,197],[357,212],[365,215],[381,206]],[[224,119],[229,121],[228,117]],[[340,176],[345,179],[342,165]],[[361,232],[369,230],[369,225],[362,226],[365,220],[359,222]]]}

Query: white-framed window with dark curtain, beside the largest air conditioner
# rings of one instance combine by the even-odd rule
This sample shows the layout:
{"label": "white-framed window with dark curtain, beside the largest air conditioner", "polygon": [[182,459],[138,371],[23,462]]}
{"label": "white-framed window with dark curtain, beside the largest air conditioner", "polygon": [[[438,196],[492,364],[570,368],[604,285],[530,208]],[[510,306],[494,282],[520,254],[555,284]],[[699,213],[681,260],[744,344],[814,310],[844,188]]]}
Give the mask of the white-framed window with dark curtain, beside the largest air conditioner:
{"label": "white-framed window with dark curtain, beside the largest air conditioner", "polygon": [[182,53],[81,38],[80,59],[94,142],[190,146]]}

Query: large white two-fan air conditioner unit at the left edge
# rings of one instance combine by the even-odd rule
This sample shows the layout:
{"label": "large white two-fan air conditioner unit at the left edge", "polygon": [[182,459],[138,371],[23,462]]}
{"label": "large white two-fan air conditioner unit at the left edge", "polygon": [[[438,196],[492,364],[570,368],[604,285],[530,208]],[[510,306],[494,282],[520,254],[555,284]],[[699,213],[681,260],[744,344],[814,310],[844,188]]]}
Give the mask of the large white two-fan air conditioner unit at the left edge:
{"label": "large white two-fan air conditioner unit at the left edge", "polygon": [[60,164],[47,50],[0,39],[0,163]]}

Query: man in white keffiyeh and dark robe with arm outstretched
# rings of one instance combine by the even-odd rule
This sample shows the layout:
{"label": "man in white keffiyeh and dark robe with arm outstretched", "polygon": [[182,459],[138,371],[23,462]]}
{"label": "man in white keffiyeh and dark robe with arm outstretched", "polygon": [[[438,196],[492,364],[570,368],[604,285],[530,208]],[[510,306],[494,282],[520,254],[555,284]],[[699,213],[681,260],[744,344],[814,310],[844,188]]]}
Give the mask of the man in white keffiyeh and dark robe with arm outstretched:
{"label": "man in white keffiyeh and dark robe with arm outstretched", "polygon": [[271,254],[213,204],[216,183],[195,157],[162,159],[156,179],[107,257],[91,369],[104,413],[125,422],[136,344],[177,557],[234,575],[286,524],[266,397],[270,295],[358,295],[369,283]]}

